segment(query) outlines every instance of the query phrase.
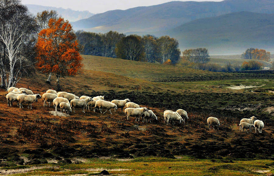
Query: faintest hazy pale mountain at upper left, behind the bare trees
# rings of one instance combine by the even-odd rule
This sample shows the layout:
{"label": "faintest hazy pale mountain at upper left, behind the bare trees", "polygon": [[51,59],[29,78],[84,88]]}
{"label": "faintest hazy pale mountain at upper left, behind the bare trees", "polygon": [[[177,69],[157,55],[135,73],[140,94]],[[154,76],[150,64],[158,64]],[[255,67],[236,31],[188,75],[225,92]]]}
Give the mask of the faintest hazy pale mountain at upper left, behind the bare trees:
{"label": "faintest hazy pale mountain at upper left, behind the bare trees", "polygon": [[61,15],[64,19],[67,19],[70,22],[77,21],[80,19],[86,19],[94,15],[89,11],[75,11],[72,9],[64,9],[64,8],[56,8],[56,7],[49,7],[49,6],[42,6],[42,5],[33,5],[33,4],[26,4],[29,11],[36,15],[37,12],[41,12],[44,10],[56,10],[59,15]]}

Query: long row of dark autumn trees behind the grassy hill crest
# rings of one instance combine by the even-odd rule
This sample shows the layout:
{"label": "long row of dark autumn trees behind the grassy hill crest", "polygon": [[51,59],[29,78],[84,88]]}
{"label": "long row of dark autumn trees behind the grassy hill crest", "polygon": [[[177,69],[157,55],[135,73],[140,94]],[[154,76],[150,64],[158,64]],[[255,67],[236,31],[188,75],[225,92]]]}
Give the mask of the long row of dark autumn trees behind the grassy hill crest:
{"label": "long row of dark autumn trees behind the grassy hill crest", "polygon": [[179,43],[169,36],[125,36],[118,32],[94,33],[77,31],[77,39],[83,46],[82,54],[114,57],[127,60],[176,64],[180,59]]}

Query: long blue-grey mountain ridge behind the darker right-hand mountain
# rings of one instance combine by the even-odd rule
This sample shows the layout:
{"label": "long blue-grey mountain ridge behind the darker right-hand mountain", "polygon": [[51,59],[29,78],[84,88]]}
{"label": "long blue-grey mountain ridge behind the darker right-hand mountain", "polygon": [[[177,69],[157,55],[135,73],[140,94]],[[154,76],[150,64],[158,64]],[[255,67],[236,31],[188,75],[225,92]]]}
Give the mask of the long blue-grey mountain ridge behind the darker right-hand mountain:
{"label": "long blue-grey mountain ridge behind the darker right-hand mountain", "polygon": [[74,29],[92,32],[153,32],[172,29],[195,19],[232,12],[274,13],[274,0],[222,2],[172,1],[160,5],[112,10],[73,22]]}

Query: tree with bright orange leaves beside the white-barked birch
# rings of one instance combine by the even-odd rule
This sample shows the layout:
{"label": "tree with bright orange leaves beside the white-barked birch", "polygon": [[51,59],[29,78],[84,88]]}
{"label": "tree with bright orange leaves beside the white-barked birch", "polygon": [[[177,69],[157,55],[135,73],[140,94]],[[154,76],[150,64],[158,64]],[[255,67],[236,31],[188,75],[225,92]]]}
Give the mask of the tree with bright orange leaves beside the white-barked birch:
{"label": "tree with bright orange leaves beside the white-barked birch", "polygon": [[63,18],[50,19],[48,28],[40,31],[36,52],[37,69],[56,74],[58,91],[60,76],[76,75],[83,66],[76,35]]}

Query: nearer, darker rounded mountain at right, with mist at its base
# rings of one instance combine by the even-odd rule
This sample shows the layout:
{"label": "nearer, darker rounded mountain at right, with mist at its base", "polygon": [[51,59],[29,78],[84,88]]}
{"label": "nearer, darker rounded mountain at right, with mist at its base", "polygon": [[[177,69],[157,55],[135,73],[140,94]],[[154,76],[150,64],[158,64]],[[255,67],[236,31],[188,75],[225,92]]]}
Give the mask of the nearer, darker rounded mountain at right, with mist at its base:
{"label": "nearer, darker rounded mountain at right, with mist at its base", "polygon": [[235,12],[197,19],[151,34],[176,38],[181,50],[206,47],[210,54],[232,54],[257,47],[274,52],[274,14]]}

